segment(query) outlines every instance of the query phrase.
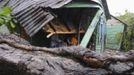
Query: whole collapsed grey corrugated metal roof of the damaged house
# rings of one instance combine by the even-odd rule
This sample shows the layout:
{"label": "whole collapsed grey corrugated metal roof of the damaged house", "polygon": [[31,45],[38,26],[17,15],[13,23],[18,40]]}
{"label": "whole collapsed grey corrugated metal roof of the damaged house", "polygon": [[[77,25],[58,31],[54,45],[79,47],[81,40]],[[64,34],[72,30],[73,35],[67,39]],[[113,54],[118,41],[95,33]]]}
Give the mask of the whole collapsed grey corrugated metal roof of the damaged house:
{"label": "whole collapsed grey corrugated metal roof of the damaged house", "polygon": [[[82,0],[0,0],[0,7],[11,6],[12,14],[17,18],[20,25],[24,27],[29,36],[35,35],[44,25],[54,19],[50,8],[56,9],[70,2],[83,2]],[[99,0],[85,0],[100,6]],[[106,6],[106,1],[103,1]],[[107,7],[106,11],[108,11]]]}

